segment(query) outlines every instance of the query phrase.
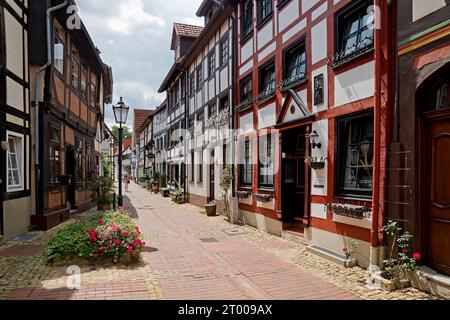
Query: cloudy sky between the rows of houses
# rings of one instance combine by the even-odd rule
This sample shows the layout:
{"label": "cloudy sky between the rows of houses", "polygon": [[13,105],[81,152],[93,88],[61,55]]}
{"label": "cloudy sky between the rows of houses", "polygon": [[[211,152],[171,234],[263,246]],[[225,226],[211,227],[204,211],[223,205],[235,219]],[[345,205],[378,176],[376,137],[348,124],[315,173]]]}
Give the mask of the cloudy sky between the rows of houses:
{"label": "cloudy sky between the rows of houses", "polygon": [[[77,0],[79,14],[103,61],[113,68],[114,103],[155,108],[158,88],[173,63],[173,22],[202,25],[195,12],[201,0]],[[128,117],[131,124],[132,115]],[[106,123],[114,124],[111,106]]]}

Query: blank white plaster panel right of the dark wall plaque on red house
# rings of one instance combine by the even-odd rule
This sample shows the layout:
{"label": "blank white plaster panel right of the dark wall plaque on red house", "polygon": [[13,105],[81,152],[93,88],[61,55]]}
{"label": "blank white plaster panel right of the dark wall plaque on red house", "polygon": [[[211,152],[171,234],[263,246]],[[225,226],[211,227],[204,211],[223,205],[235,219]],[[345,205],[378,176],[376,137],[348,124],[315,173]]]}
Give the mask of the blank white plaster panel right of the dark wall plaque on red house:
{"label": "blank white plaster panel right of the dark wall plaque on red house", "polygon": [[375,64],[371,61],[336,75],[334,78],[335,107],[373,96],[374,71]]}

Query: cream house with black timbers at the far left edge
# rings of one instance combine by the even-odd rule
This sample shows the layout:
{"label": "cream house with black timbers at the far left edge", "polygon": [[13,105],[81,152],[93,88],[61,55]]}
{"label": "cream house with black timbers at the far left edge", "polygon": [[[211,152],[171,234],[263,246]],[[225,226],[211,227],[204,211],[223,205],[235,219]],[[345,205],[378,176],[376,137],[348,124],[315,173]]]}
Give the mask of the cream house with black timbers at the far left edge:
{"label": "cream house with black timbers at the far left edge", "polygon": [[28,1],[0,1],[0,241],[28,232],[32,145]]}

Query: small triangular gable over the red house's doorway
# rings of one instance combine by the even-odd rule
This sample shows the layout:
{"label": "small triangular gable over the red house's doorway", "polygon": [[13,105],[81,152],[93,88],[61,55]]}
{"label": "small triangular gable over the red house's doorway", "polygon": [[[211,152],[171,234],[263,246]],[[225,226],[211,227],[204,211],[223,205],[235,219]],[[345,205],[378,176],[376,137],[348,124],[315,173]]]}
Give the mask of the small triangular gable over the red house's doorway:
{"label": "small triangular gable over the red house's doorway", "polygon": [[280,115],[275,128],[282,128],[298,123],[308,122],[314,118],[314,114],[309,111],[308,106],[298,95],[297,92],[290,89],[284,100]]}

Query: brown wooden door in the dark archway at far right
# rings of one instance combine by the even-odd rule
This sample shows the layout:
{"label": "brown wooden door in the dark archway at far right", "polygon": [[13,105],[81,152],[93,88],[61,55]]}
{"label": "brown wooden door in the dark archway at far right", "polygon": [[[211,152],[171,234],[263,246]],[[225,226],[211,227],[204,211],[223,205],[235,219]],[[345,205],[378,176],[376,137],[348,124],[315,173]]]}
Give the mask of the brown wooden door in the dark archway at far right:
{"label": "brown wooden door in the dark archway at far right", "polygon": [[450,275],[450,112],[427,124],[427,260]]}

